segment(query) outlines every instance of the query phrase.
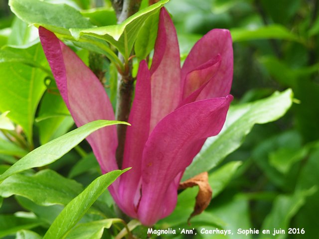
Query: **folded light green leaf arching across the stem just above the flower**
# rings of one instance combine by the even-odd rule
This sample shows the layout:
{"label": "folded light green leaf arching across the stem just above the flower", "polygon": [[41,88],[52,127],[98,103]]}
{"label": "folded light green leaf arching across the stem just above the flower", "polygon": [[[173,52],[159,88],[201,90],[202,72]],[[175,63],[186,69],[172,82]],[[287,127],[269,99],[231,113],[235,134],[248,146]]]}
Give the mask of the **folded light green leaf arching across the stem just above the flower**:
{"label": "folded light green leaf arching across the stem just above the flower", "polygon": [[[135,13],[121,24],[112,26],[103,26],[89,29],[70,29],[72,36],[78,40],[82,35],[95,36],[97,38],[104,39],[115,46],[124,56],[126,53],[130,53],[134,42],[138,36],[143,23],[148,19],[149,16],[159,11],[160,7],[169,0],[160,0],[143,10]],[[125,39],[126,38],[126,39]],[[127,42],[127,51],[125,44]]]}

